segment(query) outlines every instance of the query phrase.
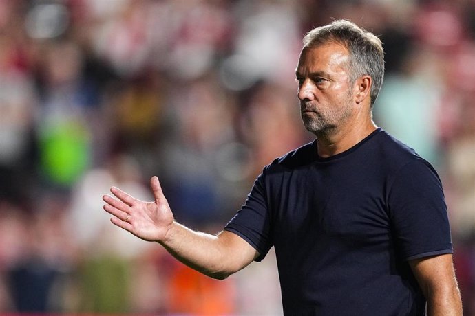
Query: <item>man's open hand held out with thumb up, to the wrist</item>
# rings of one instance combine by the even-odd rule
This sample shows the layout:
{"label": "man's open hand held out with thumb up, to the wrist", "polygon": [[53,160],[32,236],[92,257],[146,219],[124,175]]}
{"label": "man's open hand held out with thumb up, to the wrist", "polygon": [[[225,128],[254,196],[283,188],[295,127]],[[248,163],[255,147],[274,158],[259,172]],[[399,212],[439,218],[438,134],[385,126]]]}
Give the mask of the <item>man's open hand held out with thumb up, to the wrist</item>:
{"label": "man's open hand held out with thumb up, to the wrist", "polygon": [[163,195],[158,177],[151,177],[150,188],[155,198],[153,202],[140,201],[112,187],[111,192],[116,199],[104,195],[103,200],[107,203],[104,210],[114,215],[111,218],[114,225],[143,240],[161,242],[165,240],[173,225],[173,213]]}

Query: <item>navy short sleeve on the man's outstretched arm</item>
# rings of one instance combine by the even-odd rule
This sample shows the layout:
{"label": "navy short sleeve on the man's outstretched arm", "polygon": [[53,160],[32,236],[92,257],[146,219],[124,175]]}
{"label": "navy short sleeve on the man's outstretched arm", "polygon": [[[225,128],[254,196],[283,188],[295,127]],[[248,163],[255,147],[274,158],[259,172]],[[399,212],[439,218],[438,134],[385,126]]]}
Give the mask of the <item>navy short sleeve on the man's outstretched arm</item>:
{"label": "navy short sleeve on the man's outstretched arm", "polygon": [[[264,171],[266,169],[264,168]],[[271,249],[271,221],[266,203],[264,172],[254,182],[251,193],[237,214],[224,227],[249,242],[259,253],[256,261],[264,259]]]}

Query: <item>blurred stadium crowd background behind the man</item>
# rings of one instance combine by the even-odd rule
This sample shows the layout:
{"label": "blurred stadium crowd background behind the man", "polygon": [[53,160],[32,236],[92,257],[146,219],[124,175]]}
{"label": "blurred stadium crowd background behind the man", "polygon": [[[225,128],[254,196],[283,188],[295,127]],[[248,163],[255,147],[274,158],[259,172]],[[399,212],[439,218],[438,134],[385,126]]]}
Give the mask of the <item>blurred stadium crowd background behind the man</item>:
{"label": "blurred stadium crowd background behind the man", "polygon": [[281,315],[273,253],[222,282],[109,223],[117,185],[215,233],[264,165],[313,138],[302,36],[379,35],[374,120],[441,175],[475,315],[475,1],[0,0],[0,312]]}

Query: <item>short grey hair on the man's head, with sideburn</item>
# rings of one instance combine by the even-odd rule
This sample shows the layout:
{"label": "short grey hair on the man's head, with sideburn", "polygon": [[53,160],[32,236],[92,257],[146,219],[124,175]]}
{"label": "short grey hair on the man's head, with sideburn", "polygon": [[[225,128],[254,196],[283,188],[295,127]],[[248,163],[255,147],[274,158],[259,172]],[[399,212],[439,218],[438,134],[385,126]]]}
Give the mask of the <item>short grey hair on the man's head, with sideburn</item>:
{"label": "short grey hair on the man's head, with sideburn", "polygon": [[381,40],[348,20],[336,20],[316,27],[304,36],[304,48],[328,43],[344,45],[350,53],[350,80],[369,75],[372,78],[370,91],[371,108],[376,100],[384,77],[384,50]]}

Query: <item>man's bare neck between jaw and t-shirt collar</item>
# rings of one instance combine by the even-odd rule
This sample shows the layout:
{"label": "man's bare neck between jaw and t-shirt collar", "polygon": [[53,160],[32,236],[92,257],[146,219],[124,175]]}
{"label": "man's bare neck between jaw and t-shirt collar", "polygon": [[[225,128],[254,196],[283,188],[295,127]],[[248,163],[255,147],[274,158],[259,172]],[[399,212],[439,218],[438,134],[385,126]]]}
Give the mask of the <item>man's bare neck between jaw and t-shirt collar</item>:
{"label": "man's bare neck between jaw and t-shirt collar", "polygon": [[339,126],[335,131],[316,133],[318,155],[326,158],[343,153],[361,142],[376,128],[376,124],[370,119],[363,122],[363,124],[348,124],[347,126]]}

